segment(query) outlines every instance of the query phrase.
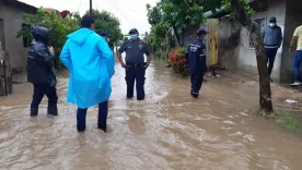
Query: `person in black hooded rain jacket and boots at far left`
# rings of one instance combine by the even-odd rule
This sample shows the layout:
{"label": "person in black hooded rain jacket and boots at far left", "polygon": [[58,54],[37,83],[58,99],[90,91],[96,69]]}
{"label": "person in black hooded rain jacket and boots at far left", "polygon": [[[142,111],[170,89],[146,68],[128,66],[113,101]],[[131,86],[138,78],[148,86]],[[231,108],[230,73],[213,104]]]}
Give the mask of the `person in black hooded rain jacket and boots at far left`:
{"label": "person in black hooded rain jacket and boots at far left", "polygon": [[55,54],[53,47],[48,47],[49,32],[45,27],[32,28],[34,40],[27,54],[27,81],[34,85],[31,117],[38,114],[38,106],[44,95],[48,98],[47,113],[58,116],[57,80],[53,72]]}

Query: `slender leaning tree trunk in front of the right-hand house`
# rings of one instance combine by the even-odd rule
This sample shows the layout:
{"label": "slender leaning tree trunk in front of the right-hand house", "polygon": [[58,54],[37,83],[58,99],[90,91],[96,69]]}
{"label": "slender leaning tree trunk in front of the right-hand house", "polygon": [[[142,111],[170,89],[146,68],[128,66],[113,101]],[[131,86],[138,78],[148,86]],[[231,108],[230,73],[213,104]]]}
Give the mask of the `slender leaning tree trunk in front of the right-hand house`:
{"label": "slender leaning tree trunk in front of the right-hand house", "polygon": [[256,41],[256,59],[257,59],[257,69],[259,74],[259,105],[260,105],[260,114],[266,116],[274,112],[271,104],[271,90],[270,82],[267,71],[267,64],[265,61],[265,48],[263,42],[263,36],[260,33],[260,27],[252,22],[247,17],[244,7],[239,0],[231,0],[232,9],[235,12],[235,17],[239,22],[249,31],[249,34]]}

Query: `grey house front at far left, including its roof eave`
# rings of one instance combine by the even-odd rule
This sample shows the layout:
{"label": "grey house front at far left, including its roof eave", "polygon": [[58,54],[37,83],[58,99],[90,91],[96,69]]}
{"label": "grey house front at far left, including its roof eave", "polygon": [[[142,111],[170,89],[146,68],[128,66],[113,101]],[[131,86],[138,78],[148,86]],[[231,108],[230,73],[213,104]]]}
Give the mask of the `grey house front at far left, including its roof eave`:
{"label": "grey house front at far left, including its roof eave", "polygon": [[16,0],[0,1],[0,41],[2,49],[9,52],[11,65],[14,70],[24,70],[26,53],[30,46],[28,39],[16,38],[16,34],[26,24],[22,13],[35,13],[36,8]]}

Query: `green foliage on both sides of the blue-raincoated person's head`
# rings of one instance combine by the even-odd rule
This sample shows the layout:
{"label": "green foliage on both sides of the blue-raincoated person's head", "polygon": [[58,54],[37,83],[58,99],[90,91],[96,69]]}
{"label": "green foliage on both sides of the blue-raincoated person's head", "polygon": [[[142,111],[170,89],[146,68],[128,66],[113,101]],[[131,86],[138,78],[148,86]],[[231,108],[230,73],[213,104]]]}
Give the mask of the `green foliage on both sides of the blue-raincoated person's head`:
{"label": "green foliage on both sides of the blue-raincoated person's head", "polygon": [[[106,11],[100,12],[95,10],[93,10],[93,15],[95,17],[96,33],[108,32],[112,35],[112,42],[117,42],[118,39],[123,39],[124,36],[119,28],[120,24],[117,17]],[[80,15],[72,13],[71,19],[62,19],[55,12],[47,13],[40,8],[36,14],[24,13],[23,20],[31,26],[43,26],[51,31],[50,45],[54,47],[57,57],[55,60],[55,71],[62,70],[65,66],[59,59],[60,50],[67,40],[67,35],[80,28]],[[18,37],[33,39],[31,27],[22,28],[18,33]]]}

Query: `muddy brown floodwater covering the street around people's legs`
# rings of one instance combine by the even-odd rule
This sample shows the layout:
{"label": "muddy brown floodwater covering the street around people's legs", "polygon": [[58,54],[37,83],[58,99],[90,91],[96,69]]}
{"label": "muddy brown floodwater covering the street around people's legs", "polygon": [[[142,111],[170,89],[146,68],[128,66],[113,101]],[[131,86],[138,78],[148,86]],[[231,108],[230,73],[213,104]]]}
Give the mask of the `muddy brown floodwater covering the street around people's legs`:
{"label": "muddy brown floodwater covering the street around people's legs", "polygon": [[[3,170],[300,170],[302,141],[271,120],[256,118],[258,88],[253,80],[225,72],[204,84],[193,99],[189,81],[160,61],[148,69],[147,99],[126,100],[124,70],[113,77],[107,134],[96,129],[97,108],[88,114],[88,130],[76,129],[76,107],[67,104],[68,75],[58,80],[59,116],[28,116],[31,84],[14,86],[0,98],[0,169]],[[276,107],[286,95],[274,86]],[[281,90],[282,89],[282,90]],[[282,92],[282,93],[280,93]]]}

